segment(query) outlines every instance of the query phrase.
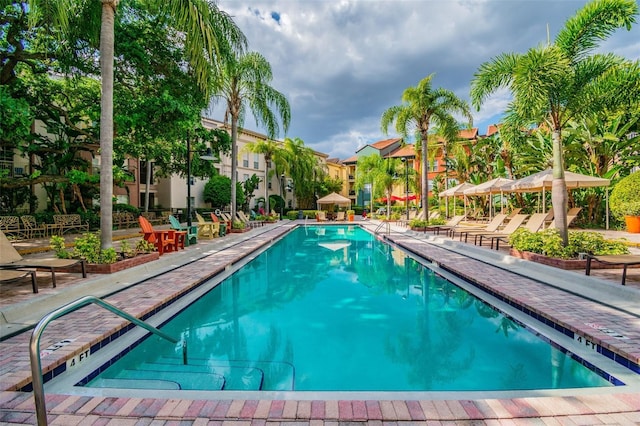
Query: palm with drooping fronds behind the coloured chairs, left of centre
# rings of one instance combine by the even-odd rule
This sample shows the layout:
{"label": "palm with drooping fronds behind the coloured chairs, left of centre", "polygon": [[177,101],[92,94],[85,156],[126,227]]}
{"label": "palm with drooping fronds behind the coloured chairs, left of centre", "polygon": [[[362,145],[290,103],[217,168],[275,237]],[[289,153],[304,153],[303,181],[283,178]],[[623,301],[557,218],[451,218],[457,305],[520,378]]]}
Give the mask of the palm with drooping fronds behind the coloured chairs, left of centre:
{"label": "palm with drooping fronds behind the coloured chairs, left of centre", "polygon": [[224,122],[231,125],[231,217],[235,217],[237,209],[238,126],[242,126],[246,110],[251,110],[258,125],[267,127],[270,138],[280,132],[276,113],[282,120],[284,131],[289,128],[289,102],[269,85],[272,79],[269,62],[261,54],[249,52],[229,58],[213,81],[213,96],[226,102]]}

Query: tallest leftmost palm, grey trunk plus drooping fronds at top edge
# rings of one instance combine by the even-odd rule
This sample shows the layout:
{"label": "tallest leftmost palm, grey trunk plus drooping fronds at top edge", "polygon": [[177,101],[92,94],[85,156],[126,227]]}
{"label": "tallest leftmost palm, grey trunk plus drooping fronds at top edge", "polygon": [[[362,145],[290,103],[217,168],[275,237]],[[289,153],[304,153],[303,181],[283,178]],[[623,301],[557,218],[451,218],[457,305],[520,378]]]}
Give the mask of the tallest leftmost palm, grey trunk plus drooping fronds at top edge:
{"label": "tallest leftmost palm, grey trunk plus drooping fronds at top edge", "polygon": [[[112,245],[113,220],[113,61],[114,23],[120,0],[27,0],[35,16],[51,19],[62,33],[69,28],[68,17],[75,12],[96,16],[101,9],[100,25],[100,228],[101,246]],[[126,1],[126,0],[124,0]],[[203,93],[209,93],[210,81],[218,67],[234,51],[241,51],[246,39],[233,20],[207,0],[142,0],[152,8],[161,8],[170,19],[169,24],[185,34],[184,44],[194,76]],[[87,23],[94,22],[87,19]],[[88,31],[97,31],[88,28]]]}

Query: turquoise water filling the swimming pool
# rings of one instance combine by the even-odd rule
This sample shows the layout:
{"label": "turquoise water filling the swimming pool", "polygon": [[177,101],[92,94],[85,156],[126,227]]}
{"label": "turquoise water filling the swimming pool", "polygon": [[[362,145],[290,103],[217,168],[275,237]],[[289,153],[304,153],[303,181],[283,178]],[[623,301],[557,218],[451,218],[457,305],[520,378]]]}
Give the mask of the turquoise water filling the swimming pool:
{"label": "turquoise water filling the swimming pool", "polygon": [[354,226],[298,228],[88,386],[444,391],[610,386]]}

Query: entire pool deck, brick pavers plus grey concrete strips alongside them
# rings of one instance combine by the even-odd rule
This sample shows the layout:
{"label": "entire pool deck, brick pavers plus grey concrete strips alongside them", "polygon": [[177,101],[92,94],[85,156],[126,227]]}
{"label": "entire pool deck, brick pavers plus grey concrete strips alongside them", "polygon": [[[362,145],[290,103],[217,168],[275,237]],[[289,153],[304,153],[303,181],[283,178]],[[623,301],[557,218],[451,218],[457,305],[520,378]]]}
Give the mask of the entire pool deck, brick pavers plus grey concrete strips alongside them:
{"label": "entire pool deck, brick pavers plus grey concrete strips alongside them", "polygon": [[[114,276],[62,280],[57,289],[42,284],[41,294],[10,303],[3,300],[0,342],[0,423],[34,424],[33,395],[17,391],[30,382],[29,333],[20,332],[52,306],[83,294],[98,294],[127,312],[142,317],[176,294],[197,287],[224,271],[246,253],[278,238],[291,223],[281,222],[211,242],[202,241],[179,253]],[[367,226],[375,226],[368,222]],[[640,362],[640,291],[614,281],[585,277],[519,261],[503,252],[460,244],[446,238],[394,229],[387,238],[427,259],[443,273],[455,272],[494,295],[526,306],[538,318],[549,318],[565,330],[588,338],[615,358]],[[635,271],[630,273],[635,275]],[[140,282],[141,281],[141,282]],[[28,283],[24,285],[29,291]],[[47,310],[49,309],[49,310]],[[593,328],[598,323],[605,328]],[[108,338],[126,324],[113,315],[82,308],[47,327],[41,347],[74,339],[43,358],[43,370],[53,371]],[[11,329],[9,329],[11,328]],[[604,330],[604,331],[603,331]],[[626,337],[612,337],[615,330]],[[293,394],[255,399],[178,399],[48,394],[50,424],[60,425],[178,425],[178,424],[640,424],[640,387],[576,390],[567,394],[539,391],[509,397],[475,394],[466,397],[315,398]],[[394,395],[396,395],[394,397]],[[232,396],[232,398],[234,398]]]}

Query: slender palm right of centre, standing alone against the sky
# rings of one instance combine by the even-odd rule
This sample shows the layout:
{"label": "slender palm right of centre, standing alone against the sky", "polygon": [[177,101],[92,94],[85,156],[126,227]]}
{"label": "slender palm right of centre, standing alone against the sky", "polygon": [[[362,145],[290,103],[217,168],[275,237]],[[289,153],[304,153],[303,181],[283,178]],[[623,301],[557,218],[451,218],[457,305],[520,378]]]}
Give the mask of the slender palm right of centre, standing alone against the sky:
{"label": "slender palm right of centre, standing alone against the sky", "polygon": [[389,125],[395,120],[396,131],[403,138],[415,132],[421,142],[421,199],[424,217],[429,212],[429,187],[427,152],[429,128],[431,123],[438,126],[447,138],[453,139],[458,133],[458,122],[453,114],[459,113],[468,119],[469,126],[473,118],[469,106],[447,89],[433,89],[431,80],[434,74],[423,78],[417,86],[409,87],[402,93],[402,105],[392,106],[382,114],[381,128],[386,134]]}

